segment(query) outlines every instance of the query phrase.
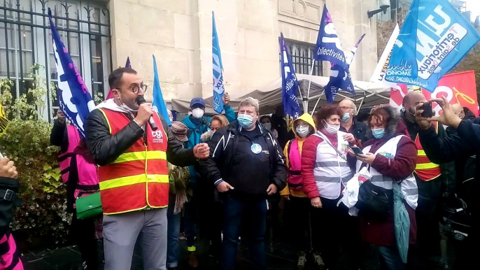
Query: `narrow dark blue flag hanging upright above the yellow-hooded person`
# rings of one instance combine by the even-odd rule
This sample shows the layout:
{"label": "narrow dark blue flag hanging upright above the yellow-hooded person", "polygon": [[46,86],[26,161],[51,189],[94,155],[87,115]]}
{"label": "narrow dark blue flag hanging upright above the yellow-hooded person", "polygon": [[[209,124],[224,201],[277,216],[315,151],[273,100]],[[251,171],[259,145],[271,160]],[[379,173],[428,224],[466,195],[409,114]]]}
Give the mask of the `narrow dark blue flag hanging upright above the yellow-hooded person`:
{"label": "narrow dark blue flag hanging upright above the yellow-hooded person", "polygon": [[283,111],[293,119],[297,119],[302,114],[302,109],[295,94],[298,89],[298,80],[295,76],[290,54],[285,46],[285,40],[283,40],[283,33],[280,35]]}

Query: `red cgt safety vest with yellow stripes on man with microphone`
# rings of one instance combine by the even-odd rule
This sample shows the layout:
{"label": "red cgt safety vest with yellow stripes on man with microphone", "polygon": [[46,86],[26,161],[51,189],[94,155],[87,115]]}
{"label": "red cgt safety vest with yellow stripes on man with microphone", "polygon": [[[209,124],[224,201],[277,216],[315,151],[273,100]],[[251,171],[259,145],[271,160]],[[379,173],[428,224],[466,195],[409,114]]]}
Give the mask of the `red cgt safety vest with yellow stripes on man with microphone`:
{"label": "red cgt safety vest with yellow stripes on man with microphone", "polygon": [[[104,113],[112,135],[131,122],[123,113],[105,108],[99,110]],[[168,138],[156,113],[153,119],[158,129],[154,132],[146,125],[146,142],[140,138],[114,162],[99,167],[100,197],[105,215],[168,206]]]}

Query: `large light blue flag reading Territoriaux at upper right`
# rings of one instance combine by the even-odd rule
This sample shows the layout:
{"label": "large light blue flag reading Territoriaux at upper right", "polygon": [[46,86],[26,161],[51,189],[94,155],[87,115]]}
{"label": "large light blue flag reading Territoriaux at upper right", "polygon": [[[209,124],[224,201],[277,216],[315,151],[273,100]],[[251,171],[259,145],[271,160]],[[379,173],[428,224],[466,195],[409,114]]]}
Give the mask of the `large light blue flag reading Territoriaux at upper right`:
{"label": "large light blue flag reading Territoriaux at upper right", "polygon": [[385,79],[434,92],[480,34],[448,0],[414,0],[392,50]]}

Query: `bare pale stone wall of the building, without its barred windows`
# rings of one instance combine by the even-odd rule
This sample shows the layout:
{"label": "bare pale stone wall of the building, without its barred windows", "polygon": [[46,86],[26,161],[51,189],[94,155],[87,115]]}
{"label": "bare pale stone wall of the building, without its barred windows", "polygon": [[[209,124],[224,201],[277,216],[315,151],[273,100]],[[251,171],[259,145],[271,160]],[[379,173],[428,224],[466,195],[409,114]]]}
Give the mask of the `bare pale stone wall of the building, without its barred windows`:
{"label": "bare pale stone wall of the building, without its barred windows", "polygon": [[[376,9],[377,0],[110,0],[113,65],[130,57],[151,81],[155,54],[165,99],[210,97],[213,10],[225,87],[238,97],[279,78],[281,32],[294,50],[314,48],[325,2],[344,49],[367,34],[351,73],[354,80],[368,80],[377,61],[376,18],[369,19],[367,10]],[[299,62],[307,61],[306,54]],[[328,76],[327,65],[316,73]]]}

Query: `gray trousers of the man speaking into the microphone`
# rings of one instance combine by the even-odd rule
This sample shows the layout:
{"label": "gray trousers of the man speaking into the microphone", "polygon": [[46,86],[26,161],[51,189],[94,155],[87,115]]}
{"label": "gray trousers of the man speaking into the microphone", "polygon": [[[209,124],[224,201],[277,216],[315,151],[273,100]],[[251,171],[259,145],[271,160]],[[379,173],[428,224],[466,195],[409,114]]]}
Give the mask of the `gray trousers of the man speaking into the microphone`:
{"label": "gray trousers of the man speaking into the microphone", "polygon": [[105,270],[130,270],[140,232],[143,269],[167,269],[167,208],[157,208],[104,215]]}

